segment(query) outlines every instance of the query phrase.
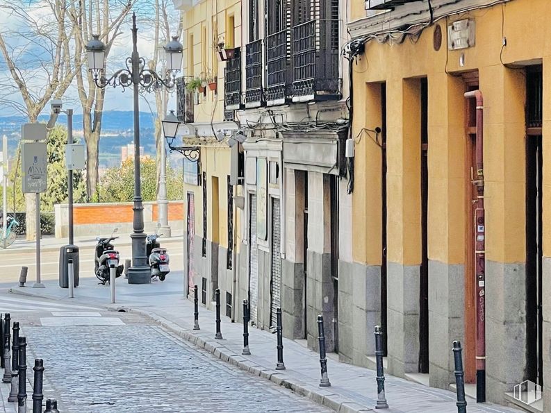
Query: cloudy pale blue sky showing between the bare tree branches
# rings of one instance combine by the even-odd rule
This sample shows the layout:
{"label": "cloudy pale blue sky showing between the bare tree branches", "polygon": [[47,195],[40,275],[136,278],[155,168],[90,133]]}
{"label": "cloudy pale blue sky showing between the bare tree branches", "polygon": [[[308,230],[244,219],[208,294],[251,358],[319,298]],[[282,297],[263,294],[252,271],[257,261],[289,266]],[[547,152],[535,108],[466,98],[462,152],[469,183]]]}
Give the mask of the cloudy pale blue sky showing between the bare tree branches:
{"label": "cloudy pale blue sky showing between the bare tree branches", "polygon": [[[150,19],[154,17],[153,8],[147,7],[145,4],[147,0],[138,0],[133,11],[137,14],[137,26],[138,26],[138,52],[140,56],[144,57],[147,61],[148,58],[153,56],[155,44],[153,41],[154,31],[153,26],[150,22]],[[116,1],[109,0],[110,6]],[[30,42],[28,39],[31,37],[26,36],[28,33],[28,28],[26,28],[24,21],[18,19],[17,16],[10,14],[6,8],[1,6],[6,5],[6,3],[20,3],[20,6],[24,12],[27,12],[28,15],[31,15],[33,19],[37,19],[42,24],[51,25],[52,17],[51,10],[47,8],[47,3],[45,0],[31,0],[31,1],[19,1],[19,0],[0,0],[0,28],[3,33],[8,33],[8,31],[13,30],[21,33],[22,35],[17,36],[7,36],[6,43],[8,43],[8,48],[12,49],[17,53],[17,58],[21,62],[22,75],[25,78],[26,83],[29,88],[40,94],[40,90],[43,85],[46,84],[46,72],[37,67],[38,60],[48,60],[47,52],[51,49],[48,47],[47,42],[42,40],[38,43]],[[169,1],[169,7],[171,8],[169,12],[173,16],[174,22],[172,22],[172,31],[175,31],[177,25],[177,14],[178,12],[174,11],[172,6],[172,1]],[[176,13],[176,14],[175,14]],[[148,22],[149,19],[149,22]],[[117,69],[125,67],[126,57],[129,57],[132,52],[132,42],[131,42],[131,26],[132,26],[132,16],[131,13],[126,16],[124,23],[122,24],[122,34],[117,38],[113,44],[113,48],[110,51],[108,58],[108,73],[106,75],[112,74]],[[51,60],[51,58],[50,58]],[[161,69],[161,66],[158,67]],[[14,85],[13,78],[11,78],[6,66],[6,62],[3,59],[3,56],[0,54],[0,87],[1,85],[6,85],[10,83]],[[22,102],[22,98],[17,93],[12,93],[9,96],[9,99],[14,99],[19,103]],[[78,93],[76,90],[76,79],[74,79],[73,84],[63,97],[64,108],[74,108],[75,113],[81,113],[81,103],[78,99]],[[148,104],[149,103],[149,104]],[[124,92],[121,87],[113,89],[113,87],[108,87],[106,92],[106,101],[104,104],[104,111],[107,110],[132,110],[133,109],[133,92],[131,89],[126,89]],[[170,100],[168,103],[168,109],[176,109],[176,93],[171,92]],[[44,109],[49,112],[49,105]],[[149,112],[153,110],[155,112],[155,96],[154,94],[145,93],[144,96],[140,97],[140,111]],[[3,100],[0,96],[0,117],[18,115],[17,111],[6,104],[6,101]]]}

